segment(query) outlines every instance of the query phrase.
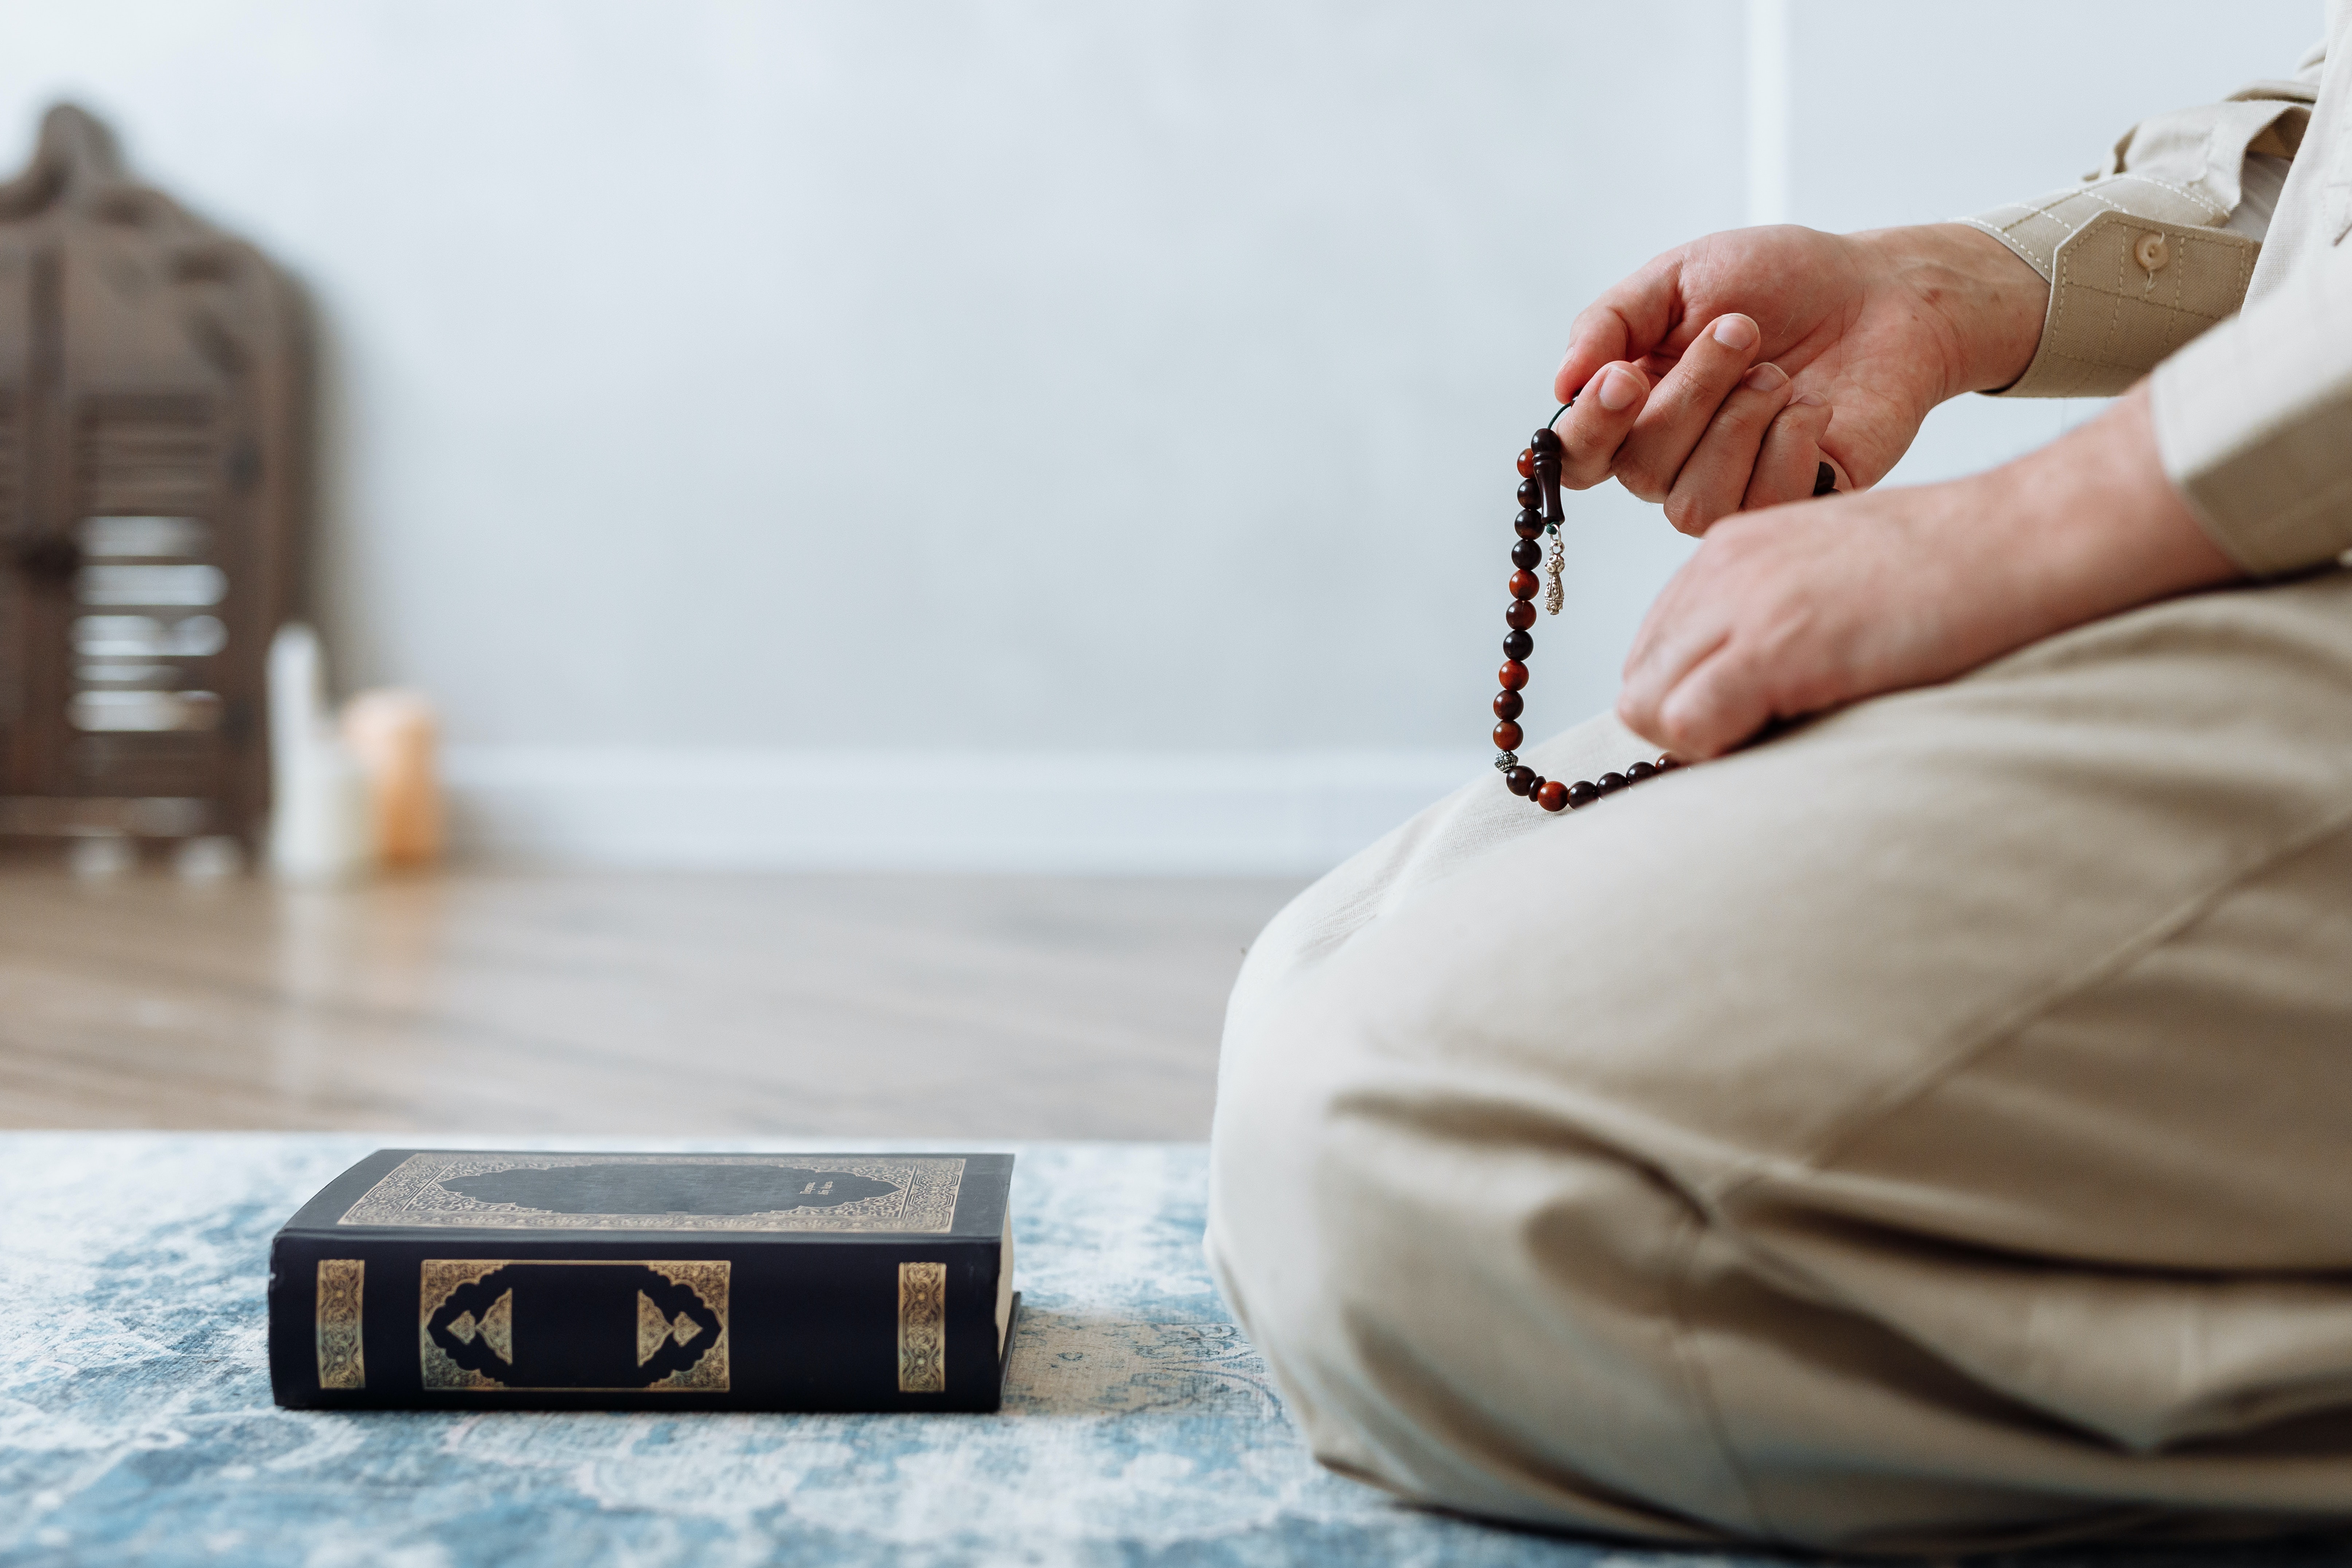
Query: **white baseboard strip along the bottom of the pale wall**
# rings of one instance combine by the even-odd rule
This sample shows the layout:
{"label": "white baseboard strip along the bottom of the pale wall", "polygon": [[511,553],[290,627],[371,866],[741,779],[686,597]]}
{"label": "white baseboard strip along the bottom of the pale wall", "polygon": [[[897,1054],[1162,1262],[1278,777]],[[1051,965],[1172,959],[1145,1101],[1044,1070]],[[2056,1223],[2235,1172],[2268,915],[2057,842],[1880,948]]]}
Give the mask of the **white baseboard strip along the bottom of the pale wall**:
{"label": "white baseboard strip along the bottom of the pale wall", "polygon": [[456,853],[539,865],[1315,875],[1479,752],[449,748]]}

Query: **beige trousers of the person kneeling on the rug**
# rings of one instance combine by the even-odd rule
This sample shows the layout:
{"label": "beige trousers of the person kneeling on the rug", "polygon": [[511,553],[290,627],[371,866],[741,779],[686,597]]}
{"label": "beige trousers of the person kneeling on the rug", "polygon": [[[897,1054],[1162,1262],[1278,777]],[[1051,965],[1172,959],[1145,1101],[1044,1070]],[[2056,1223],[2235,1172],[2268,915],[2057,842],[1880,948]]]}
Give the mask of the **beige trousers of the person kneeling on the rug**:
{"label": "beige trousers of the person kneeling on the rug", "polygon": [[1209,1255],[1324,1462],[1475,1514],[2352,1519],[2352,574],[1477,778],[1251,947]]}

